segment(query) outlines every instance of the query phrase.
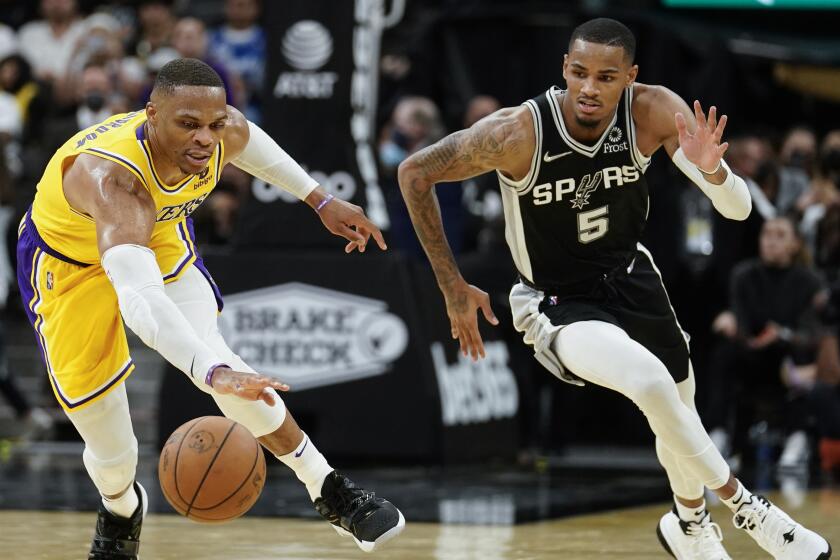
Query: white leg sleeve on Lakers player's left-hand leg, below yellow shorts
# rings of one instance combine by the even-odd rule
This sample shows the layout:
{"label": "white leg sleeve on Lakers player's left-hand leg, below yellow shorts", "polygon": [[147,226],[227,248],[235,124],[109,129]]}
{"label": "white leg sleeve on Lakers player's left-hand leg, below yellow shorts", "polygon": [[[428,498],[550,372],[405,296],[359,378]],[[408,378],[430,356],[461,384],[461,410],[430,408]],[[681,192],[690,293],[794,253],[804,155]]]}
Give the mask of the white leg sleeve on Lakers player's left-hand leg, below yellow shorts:
{"label": "white leg sleeve on Lakers player's left-hand leg, below yellow shorts", "polygon": [[133,481],[137,470],[137,438],[131,426],[125,384],[68,418],[85,442],[82,455],[91,480],[103,496],[114,496]]}

